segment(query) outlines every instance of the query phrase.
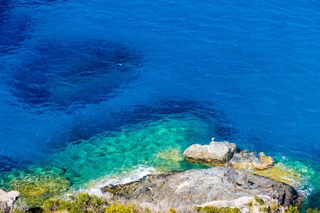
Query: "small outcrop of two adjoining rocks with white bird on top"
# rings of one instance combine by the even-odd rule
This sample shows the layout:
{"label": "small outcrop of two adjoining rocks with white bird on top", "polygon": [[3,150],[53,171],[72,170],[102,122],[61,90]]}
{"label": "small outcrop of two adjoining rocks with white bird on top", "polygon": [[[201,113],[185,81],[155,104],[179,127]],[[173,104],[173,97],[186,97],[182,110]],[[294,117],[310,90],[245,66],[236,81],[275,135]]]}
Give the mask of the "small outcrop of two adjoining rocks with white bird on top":
{"label": "small outcrop of two adjoining rocks with white bird on top", "polygon": [[[214,138],[213,138],[214,139]],[[264,153],[247,152],[228,141],[211,141],[209,145],[193,144],[183,152],[186,160],[213,165],[231,165],[233,168],[263,170],[270,168],[274,161]]]}

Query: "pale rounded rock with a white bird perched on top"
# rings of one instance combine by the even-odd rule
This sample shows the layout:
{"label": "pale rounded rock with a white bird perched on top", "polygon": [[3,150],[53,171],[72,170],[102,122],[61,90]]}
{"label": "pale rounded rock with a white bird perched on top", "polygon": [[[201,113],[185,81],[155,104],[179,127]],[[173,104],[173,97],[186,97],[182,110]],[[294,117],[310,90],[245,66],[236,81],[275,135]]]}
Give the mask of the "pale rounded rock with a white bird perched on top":
{"label": "pale rounded rock with a white bird perched on top", "polygon": [[[213,138],[214,139],[214,138]],[[233,153],[237,151],[235,143],[228,141],[215,142],[211,141],[209,145],[193,144],[183,152],[183,156],[187,160],[224,164],[233,157]]]}

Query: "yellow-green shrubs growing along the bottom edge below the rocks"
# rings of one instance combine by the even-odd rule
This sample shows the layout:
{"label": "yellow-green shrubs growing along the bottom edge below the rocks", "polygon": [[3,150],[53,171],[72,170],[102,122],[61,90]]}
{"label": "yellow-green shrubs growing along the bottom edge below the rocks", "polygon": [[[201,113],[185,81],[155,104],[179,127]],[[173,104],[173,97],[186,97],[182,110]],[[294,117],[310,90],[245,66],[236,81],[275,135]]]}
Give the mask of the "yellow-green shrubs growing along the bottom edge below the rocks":
{"label": "yellow-green shrubs growing along the bottom edge below the rocks", "polygon": [[[288,209],[278,207],[272,202],[267,203],[255,196],[254,199],[247,204],[250,207],[250,212],[272,213],[299,213],[297,207],[290,206]],[[263,203],[263,204],[262,204]],[[260,205],[261,204],[261,205]],[[255,207],[256,209],[251,209]],[[281,211],[278,211],[282,208]],[[257,210],[257,211],[256,211]],[[31,211],[32,212],[32,211]],[[31,213],[30,212],[30,213]],[[34,212],[34,211],[33,211]],[[68,198],[55,197],[51,200],[46,200],[43,206],[36,211],[37,213],[150,213],[148,208],[140,207],[134,202],[122,200],[119,197],[114,197],[107,200],[104,197],[96,195],[88,195],[87,193],[79,193],[77,195],[70,195]],[[20,200],[14,204],[14,207],[9,208],[0,203],[0,213],[28,213],[28,208],[24,202]],[[162,209],[159,213],[240,213],[240,209],[235,208],[219,208],[214,206],[206,207],[184,207],[183,209]],[[319,209],[308,209],[306,213],[319,213]]]}

